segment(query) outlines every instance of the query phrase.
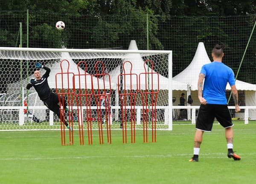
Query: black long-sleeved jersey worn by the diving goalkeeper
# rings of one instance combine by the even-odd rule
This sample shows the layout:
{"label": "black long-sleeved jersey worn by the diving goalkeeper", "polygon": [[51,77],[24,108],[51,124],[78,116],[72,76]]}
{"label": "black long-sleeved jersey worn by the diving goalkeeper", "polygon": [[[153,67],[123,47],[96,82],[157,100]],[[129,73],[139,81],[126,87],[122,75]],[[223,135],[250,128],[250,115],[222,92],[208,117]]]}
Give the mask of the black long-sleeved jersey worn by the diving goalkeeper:
{"label": "black long-sleeved jersey worn by the diving goalkeeper", "polygon": [[47,78],[49,77],[50,68],[47,68],[44,66],[44,69],[46,70],[45,74],[41,77],[40,80],[36,80],[33,82],[33,84],[30,84],[30,86],[27,86],[27,88],[31,88],[32,86],[35,88],[35,91],[38,93],[38,96],[42,101],[45,99],[48,99],[52,93],[52,91],[49,88]]}

